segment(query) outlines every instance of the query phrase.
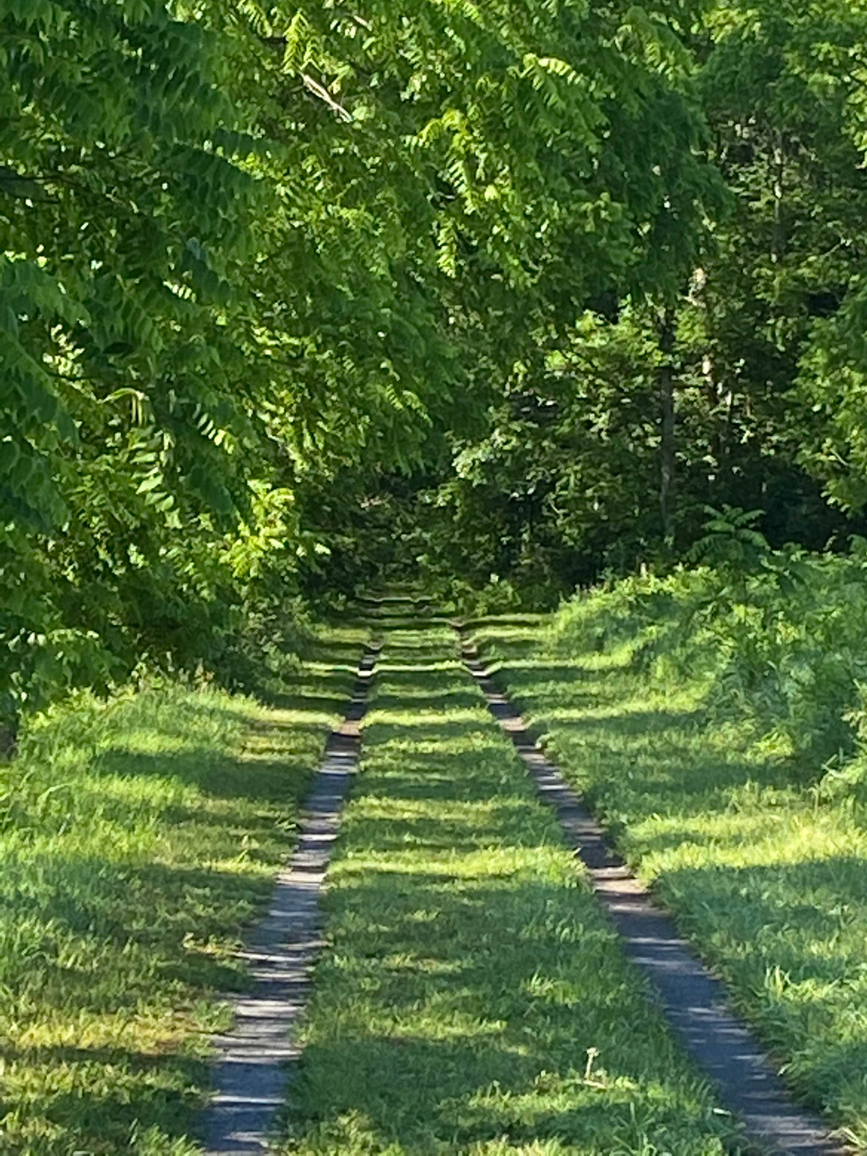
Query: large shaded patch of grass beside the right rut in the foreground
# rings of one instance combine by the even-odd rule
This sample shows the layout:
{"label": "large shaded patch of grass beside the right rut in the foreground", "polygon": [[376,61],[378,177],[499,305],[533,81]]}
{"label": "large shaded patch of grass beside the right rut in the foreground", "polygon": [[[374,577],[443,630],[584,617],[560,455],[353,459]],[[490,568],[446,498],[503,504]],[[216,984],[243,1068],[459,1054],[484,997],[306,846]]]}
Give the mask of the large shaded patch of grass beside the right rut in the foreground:
{"label": "large shaded patch of grass beside the right rut in the foreground", "polygon": [[[867,1112],[867,860],[682,868],[661,897],[748,1007],[796,1095],[844,1118]],[[744,1000],[746,996],[746,1000]]]}

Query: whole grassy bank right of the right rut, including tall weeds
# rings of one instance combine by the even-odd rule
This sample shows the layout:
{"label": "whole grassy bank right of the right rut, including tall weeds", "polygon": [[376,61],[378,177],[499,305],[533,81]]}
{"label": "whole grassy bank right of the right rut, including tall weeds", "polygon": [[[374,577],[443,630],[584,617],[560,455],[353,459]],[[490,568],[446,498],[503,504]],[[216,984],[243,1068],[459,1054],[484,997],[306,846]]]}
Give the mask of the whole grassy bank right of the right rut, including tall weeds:
{"label": "whole grassy bank right of the right rut, including tall weeds", "polygon": [[867,1150],[865,609],[853,563],[810,565],[794,594],[630,579],[475,638],[792,1087]]}

